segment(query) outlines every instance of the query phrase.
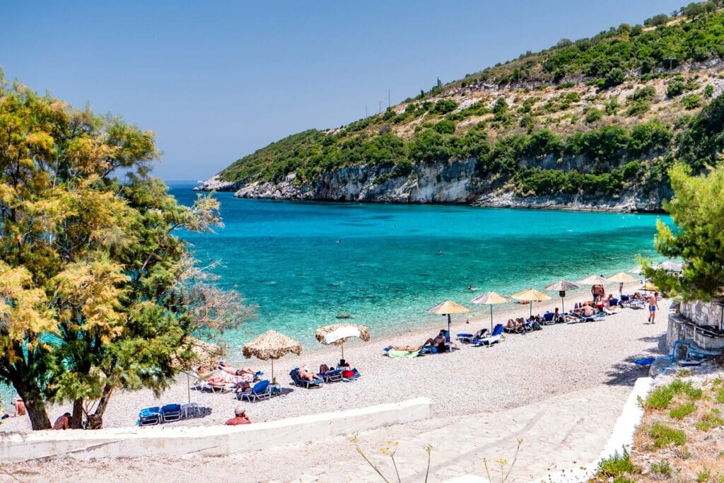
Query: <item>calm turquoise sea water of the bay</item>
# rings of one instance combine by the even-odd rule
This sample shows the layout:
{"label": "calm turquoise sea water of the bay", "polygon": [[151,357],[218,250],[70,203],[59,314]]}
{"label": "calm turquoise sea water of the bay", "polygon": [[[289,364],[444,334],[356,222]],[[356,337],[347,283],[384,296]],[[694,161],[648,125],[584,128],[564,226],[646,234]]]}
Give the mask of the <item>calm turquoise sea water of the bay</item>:
{"label": "calm turquoise sea water of the bay", "polygon": [[[193,184],[171,187],[181,203],[197,196]],[[316,347],[314,329],[342,313],[373,335],[437,328],[441,317],[426,308],[446,299],[485,315],[489,306],[469,302],[487,290],[542,290],[560,278],[630,269],[636,253],[656,258],[655,215],[214,196],[225,227],[181,235],[202,264],[221,261],[220,285],[258,306],[256,319],[227,332],[230,348],[272,328]],[[0,393],[7,408],[11,392]]]}

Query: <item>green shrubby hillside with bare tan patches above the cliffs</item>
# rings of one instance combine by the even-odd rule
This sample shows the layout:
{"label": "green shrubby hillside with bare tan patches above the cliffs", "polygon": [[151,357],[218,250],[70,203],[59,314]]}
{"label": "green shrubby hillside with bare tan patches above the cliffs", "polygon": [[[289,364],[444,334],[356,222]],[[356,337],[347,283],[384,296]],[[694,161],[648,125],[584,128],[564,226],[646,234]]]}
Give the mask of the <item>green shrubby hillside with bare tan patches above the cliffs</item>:
{"label": "green shrubby hillside with bare tan patches above the cliffs", "polygon": [[724,12],[689,4],[521,55],[385,112],[271,143],[219,173],[298,185],[366,165],[375,183],[419,164],[474,159],[475,177],[518,196],[616,196],[668,185],[675,159],[715,164],[724,147]]}

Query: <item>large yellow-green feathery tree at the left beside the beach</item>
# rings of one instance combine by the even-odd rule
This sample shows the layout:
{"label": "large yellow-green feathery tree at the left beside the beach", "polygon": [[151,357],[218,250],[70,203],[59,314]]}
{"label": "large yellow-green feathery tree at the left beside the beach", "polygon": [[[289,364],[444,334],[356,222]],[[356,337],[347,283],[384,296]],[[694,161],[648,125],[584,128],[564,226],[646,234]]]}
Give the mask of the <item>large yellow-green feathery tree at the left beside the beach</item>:
{"label": "large yellow-green feathery tree at the left beside the beach", "polygon": [[188,277],[173,232],[219,226],[218,202],[180,206],[149,175],[157,158],[153,133],[122,119],[17,83],[0,90],[0,381],[33,429],[49,428],[46,403],[62,401],[80,427],[90,400],[88,427],[100,427],[116,390],[164,389],[190,334],[247,315],[194,316],[189,295],[209,286]]}

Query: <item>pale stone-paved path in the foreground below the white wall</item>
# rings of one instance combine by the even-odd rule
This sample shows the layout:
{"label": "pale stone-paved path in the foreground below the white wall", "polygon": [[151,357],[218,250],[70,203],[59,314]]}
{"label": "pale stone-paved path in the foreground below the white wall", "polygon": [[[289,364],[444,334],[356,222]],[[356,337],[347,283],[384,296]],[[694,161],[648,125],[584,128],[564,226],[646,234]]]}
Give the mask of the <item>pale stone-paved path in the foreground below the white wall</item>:
{"label": "pale stone-paved path in the foreground below the white wall", "polygon": [[[500,388],[505,390],[505,388]],[[464,419],[439,418],[364,432],[358,441],[371,461],[394,481],[390,459],[379,448],[399,441],[395,460],[403,482],[421,482],[426,445],[432,445],[430,482],[456,476],[485,476],[483,458],[512,460],[523,440],[508,482],[548,482],[595,461],[604,448],[631,387],[602,385],[499,413]],[[381,482],[346,437],[260,450],[223,458],[35,463],[21,481],[296,481]],[[500,469],[492,472],[500,480]],[[17,481],[0,472],[0,482]]]}

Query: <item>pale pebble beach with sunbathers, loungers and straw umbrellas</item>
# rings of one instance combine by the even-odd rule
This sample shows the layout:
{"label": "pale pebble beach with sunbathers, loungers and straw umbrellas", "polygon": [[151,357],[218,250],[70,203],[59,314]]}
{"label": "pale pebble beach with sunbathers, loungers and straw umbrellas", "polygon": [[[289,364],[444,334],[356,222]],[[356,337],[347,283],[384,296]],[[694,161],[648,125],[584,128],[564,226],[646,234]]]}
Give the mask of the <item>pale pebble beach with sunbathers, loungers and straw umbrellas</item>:
{"label": "pale pebble beach with sunbathers, loungers and straw umbrellas", "polygon": [[[573,306],[575,301],[576,298],[566,299],[566,305]],[[542,313],[553,306],[554,303],[536,304],[534,311]],[[345,347],[345,358],[361,371],[362,377],[355,382],[337,382],[313,390],[292,387],[289,371],[302,362],[313,368],[337,361],[339,348],[324,348],[301,357],[287,356],[274,364],[274,374],[287,394],[244,406],[252,421],[271,421],[426,396],[434,401],[437,416],[449,416],[514,408],[597,385],[633,385],[636,377],[644,375],[633,360],[661,353],[669,301],[662,300],[659,306],[662,310],[653,325],[644,324],[648,311],[624,309],[602,322],[557,324],[526,335],[506,335],[502,343],[492,348],[460,345],[460,350],[452,353],[411,359],[384,357],[382,348],[390,343],[419,344],[434,335],[437,327],[385,340],[377,337],[369,343],[350,343]],[[523,316],[528,311],[528,306],[521,306],[498,314],[495,319],[507,320],[508,316]],[[474,332],[488,324],[489,319],[457,323],[453,324],[452,333]],[[254,361],[239,362],[248,365]],[[268,364],[258,367],[271,374]],[[185,376],[179,377],[160,399],[148,390],[119,392],[111,399],[104,424],[129,427],[135,424],[140,408],[183,403],[187,399]],[[203,408],[205,415],[168,424],[223,424],[239,404],[231,394],[195,390],[191,391],[191,400]],[[51,408],[51,421],[67,410],[70,408]],[[27,418],[6,419],[0,425],[0,432],[29,429]]]}

